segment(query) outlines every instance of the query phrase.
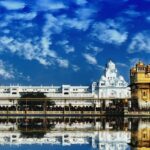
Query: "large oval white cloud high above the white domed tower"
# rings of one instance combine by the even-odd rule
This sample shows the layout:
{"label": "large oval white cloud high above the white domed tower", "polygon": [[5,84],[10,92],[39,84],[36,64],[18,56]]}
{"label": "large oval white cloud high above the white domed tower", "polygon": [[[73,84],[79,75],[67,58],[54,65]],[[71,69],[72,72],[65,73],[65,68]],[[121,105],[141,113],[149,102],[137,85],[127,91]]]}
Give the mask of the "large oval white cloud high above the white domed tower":
{"label": "large oval white cloud high above the white domed tower", "polygon": [[107,20],[93,25],[92,36],[103,43],[120,45],[127,40],[128,33],[124,31],[123,25]]}

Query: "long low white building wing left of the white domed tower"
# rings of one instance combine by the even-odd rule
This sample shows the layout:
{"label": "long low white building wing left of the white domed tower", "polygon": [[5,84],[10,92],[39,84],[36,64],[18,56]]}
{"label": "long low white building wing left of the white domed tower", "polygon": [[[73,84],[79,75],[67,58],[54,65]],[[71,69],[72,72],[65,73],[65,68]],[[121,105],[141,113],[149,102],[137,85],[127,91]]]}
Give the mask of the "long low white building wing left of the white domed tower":
{"label": "long low white building wing left of the white domed tower", "polygon": [[0,86],[0,98],[19,98],[28,92],[41,92],[47,97],[93,97],[89,86]]}

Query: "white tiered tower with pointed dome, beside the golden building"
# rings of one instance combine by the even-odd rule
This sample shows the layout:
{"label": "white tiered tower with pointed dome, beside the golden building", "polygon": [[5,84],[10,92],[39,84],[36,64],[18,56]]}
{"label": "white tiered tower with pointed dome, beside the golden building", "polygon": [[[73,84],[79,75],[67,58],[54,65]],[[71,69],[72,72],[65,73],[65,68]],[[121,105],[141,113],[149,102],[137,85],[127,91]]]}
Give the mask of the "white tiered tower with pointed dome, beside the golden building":
{"label": "white tiered tower with pointed dome, beside the golden building", "polygon": [[97,95],[99,98],[130,98],[131,92],[128,83],[123,76],[118,74],[118,70],[112,61],[109,61],[104,75],[97,83]]}

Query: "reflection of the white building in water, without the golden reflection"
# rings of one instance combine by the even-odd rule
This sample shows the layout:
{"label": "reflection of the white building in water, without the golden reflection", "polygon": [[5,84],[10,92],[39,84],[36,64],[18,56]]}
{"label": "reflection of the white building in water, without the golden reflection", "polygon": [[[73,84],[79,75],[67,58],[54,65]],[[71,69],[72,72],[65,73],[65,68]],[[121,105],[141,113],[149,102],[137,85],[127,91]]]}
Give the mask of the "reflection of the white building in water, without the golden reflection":
{"label": "reflection of the white building in water, without the golden reflection", "polygon": [[0,128],[0,144],[2,145],[52,144],[71,146],[74,144],[88,144],[93,149],[126,150],[131,139],[130,131],[109,131],[110,124],[110,126],[107,125],[107,129],[104,131],[101,122],[96,122],[95,125],[81,122],[74,122],[73,124],[56,123],[55,128],[47,132],[43,138],[23,137],[15,123],[1,125],[5,126],[5,128]]}

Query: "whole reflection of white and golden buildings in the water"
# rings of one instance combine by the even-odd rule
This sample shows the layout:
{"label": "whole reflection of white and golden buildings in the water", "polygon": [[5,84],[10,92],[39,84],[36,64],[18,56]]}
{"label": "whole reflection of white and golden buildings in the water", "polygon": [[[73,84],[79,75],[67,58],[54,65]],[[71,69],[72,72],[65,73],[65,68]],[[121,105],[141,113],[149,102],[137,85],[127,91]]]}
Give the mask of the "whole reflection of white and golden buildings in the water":
{"label": "whole reflection of white and golden buildings in the water", "polygon": [[0,143],[150,149],[150,118],[1,118]]}

